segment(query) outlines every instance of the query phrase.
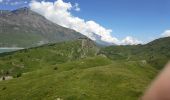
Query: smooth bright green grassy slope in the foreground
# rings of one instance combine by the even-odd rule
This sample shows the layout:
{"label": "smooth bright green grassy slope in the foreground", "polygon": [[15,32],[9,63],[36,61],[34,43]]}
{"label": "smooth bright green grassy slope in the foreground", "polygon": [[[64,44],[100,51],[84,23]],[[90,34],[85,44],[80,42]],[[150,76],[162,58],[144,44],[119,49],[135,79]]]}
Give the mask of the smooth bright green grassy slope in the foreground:
{"label": "smooth bright green grassy slope in the foreground", "polygon": [[141,62],[97,56],[44,66],[0,82],[2,100],[137,100],[156,70]]}

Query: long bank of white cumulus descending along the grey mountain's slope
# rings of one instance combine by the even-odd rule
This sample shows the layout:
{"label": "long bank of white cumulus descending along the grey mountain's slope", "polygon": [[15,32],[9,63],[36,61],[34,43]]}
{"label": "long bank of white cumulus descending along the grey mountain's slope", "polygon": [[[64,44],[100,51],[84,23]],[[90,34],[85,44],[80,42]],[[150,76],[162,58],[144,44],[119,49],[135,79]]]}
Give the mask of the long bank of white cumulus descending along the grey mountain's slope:
{"label": "long bank of white cumulus descending along the grey mountain's slope", "polygon": [[[123,41],[111,35],[112,30],[106,29],[93,20],[85,21],[79,17],[73,16],[71,10],[80,11],[79,4],[72,5],[70,2],[57,0],[55,2],[32,0],[29,4],[31,10],[43,15],[48,20],[66,28],[76,30],[92,40],[96,40],[96,35],[101,40],[108,43],[120,44],[136,44],[137,40],[128,37]],[[134,42],[134,43],[132,43]]]}

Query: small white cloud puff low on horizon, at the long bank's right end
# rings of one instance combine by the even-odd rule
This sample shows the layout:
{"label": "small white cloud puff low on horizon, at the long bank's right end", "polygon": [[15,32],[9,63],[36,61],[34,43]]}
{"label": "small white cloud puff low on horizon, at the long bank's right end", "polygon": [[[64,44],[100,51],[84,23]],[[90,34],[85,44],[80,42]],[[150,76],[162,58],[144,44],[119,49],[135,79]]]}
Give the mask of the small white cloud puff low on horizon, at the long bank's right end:
{"label": "small white cloud puff low on horizon, at the long bank's right end", "polygon": [[122,45],[137,45],[137,44],[141,44],[142,42],[131,37],[131,36],[127,36],[125,39],[123,39],[121,41]]}

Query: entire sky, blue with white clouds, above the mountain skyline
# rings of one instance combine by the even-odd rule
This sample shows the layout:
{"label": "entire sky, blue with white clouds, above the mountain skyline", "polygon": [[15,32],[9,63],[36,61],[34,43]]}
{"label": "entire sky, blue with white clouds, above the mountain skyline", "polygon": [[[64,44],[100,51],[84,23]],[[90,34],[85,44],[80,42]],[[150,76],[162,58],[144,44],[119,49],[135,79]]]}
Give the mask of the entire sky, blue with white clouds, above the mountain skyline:
{"label": "entire sky, blue with white clouds, above the mountain skyline", "polygon": [[95,40],[147,43],[170,36],[170,0],[0,0],[0,9],[30,7]]}

